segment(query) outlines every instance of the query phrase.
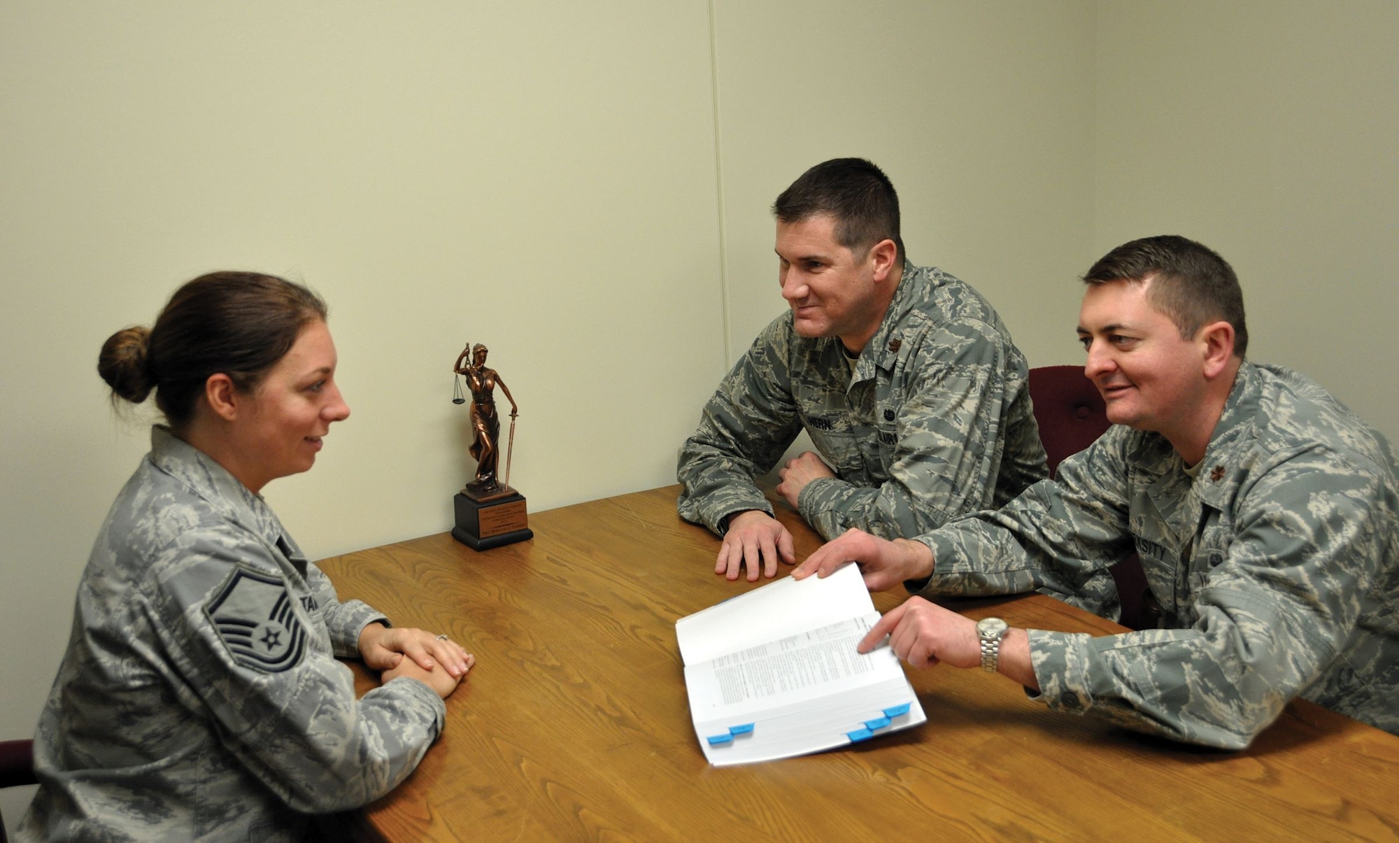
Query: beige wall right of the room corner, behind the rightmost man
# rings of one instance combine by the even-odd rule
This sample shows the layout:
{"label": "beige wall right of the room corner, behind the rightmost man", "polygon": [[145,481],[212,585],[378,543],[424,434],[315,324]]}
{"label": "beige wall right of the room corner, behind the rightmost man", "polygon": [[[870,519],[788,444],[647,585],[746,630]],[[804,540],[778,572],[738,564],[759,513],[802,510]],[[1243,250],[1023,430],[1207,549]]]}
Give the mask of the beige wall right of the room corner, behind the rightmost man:
{"label": "beige wall right of the room corner, behind the rightmost man", "polygon": [[1399,3],[1104,0],[1097,41],[1095,256],[1217,249],[1249,357],[1399,441]]}

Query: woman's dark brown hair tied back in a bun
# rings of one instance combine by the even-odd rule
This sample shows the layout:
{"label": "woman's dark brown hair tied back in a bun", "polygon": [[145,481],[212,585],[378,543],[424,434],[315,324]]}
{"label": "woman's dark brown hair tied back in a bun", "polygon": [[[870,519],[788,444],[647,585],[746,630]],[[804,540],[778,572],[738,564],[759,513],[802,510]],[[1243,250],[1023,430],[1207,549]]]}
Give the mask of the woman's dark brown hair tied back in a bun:
{"label": "woman's dark brown hair tied back in a bun", "polygon": [[227,374],[250,392],[326,302],[301,284],[253,272],[211,272],[171,295],[154,328],[125,328],[102,343],[97,371],[120,398],[155,406],[180,430],[194,417],[204,382]]}

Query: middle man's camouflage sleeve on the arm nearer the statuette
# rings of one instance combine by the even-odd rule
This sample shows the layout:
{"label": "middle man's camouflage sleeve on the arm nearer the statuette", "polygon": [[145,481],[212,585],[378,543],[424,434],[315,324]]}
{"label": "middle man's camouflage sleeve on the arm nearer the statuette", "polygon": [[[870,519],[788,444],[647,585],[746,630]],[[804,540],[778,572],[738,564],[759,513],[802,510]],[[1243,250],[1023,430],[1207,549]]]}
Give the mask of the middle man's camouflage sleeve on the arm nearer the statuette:
{"label": "middle man's camouflage sleeve on the arm nearer the statuette", "polygon": [[790,314],[778,316],[758,335],[680,448],[676,508],[686,521],[722,534],[719,521],[730,513],[772,514],[754,479],[772,471],[802,431],[788,356],[790,319]]}

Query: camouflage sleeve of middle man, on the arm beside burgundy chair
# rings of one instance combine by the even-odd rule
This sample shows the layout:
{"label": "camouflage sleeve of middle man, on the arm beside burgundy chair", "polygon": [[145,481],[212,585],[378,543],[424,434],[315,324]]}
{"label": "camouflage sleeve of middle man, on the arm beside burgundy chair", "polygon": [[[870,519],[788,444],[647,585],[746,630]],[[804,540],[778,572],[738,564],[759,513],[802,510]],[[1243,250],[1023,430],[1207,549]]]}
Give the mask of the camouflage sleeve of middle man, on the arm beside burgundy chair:
{"label": "camouflage sleeve of middle man, on the arm beside burgundy chair", "polygon": [[[929,329],[905,372],[907,385],[895,382],[895,395],[881,400],[898,407],[887,479],[863,486],[824,478],[797,499],[802,517],[827,539],[852,527],[915,536],[992,506],[1011,433],[1003,426],[1028,377],[1024,358],[993,325],[963,318]],[[1028,414],[1028,406],[1016,409]],[[887,422],[876,420],[880,436]]]}

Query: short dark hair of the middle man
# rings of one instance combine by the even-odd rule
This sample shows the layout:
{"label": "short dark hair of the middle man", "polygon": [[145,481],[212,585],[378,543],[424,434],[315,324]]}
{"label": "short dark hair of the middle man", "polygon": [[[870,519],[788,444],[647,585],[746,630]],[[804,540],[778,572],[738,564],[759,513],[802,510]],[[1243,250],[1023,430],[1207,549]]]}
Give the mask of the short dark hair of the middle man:
{"label": "short dark hair of the middle man", "polygon": [[830,214],[835,242],[863,259],[881,239],[894,241],[895,262],[904,265],[898,232],[898,193],[879,167],[865,158],[832,158],[807,169],[772,203],[781,223],[803,223]]}

